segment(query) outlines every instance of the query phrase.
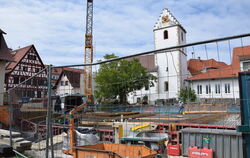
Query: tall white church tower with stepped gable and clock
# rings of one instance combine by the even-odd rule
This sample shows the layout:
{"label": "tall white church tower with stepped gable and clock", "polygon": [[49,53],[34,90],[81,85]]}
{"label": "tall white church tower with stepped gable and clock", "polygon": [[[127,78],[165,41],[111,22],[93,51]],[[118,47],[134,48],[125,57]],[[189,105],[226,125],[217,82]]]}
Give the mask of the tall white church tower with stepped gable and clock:
{"label": "tall white church tower with stepped gable and clock", "polygon": [[[155,50],[186,44],[186,30],[168,9],[163,9],[154,26]],[[158,53],[158,99],[176,99],[187,78],[186,49]]]}

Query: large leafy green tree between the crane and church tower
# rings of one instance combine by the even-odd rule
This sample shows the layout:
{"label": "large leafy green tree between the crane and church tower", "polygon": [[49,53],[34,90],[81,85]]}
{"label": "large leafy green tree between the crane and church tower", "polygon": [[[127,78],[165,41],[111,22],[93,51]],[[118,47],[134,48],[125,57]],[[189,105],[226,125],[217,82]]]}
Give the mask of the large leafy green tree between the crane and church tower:
{"label": "large leafy green tree between the crane and church tower", "polygon": [[[117,58],[107,54],[105,60]],[[101,64],[95,77],[97,84],[95,97],[98,102],[119,99],[120,104],[127,103],[128,93],[148,86],[156,77],[146,72],[138,59],[117,60]]]}

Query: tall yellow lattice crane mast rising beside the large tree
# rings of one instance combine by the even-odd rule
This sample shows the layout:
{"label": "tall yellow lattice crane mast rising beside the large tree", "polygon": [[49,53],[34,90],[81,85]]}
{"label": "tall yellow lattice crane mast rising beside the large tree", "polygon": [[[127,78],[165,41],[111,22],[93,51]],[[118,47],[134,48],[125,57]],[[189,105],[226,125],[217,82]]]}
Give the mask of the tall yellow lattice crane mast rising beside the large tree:
{"label": "tall yellow lattice crane mast rising beside the large tree", "polygon": [[[87,0],[84,64],[93,63],[93,0]],[[84,66],[84,95],[93,102],[92,66]]]}

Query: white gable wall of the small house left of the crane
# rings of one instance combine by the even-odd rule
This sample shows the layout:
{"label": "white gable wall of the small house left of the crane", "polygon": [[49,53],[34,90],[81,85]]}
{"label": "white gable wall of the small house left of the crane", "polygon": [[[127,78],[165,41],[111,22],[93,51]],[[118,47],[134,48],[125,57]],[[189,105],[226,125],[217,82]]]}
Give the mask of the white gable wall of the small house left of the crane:
{"label": "white gable wall of the small house left of the crane", "polygon": [[[61,81],[64,82],[64,85],[61,85]],[[65,81],[68,81],[68,85],[65,85]],[[56,95],[77,94],[77,93],[80,93],[80,88],[72,87],[67,76],[65,76],[65,75],[62,76],[61,80],[59,81],[59,83],[56,87]]]}

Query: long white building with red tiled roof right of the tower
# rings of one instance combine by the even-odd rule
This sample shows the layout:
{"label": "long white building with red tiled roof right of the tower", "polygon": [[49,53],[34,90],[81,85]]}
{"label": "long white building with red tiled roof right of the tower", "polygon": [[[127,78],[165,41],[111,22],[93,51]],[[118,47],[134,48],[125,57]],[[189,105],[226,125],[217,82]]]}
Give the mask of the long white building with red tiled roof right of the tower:
{"label": "long white building with red tiled roof right of the tower", "polygon": [[232,56],[229,65],[214,59],[188,61],[192,76],[186,81],[195,90],[198,100],[239,104],[238,74],[250,70],[250,46],[234,48]]}

